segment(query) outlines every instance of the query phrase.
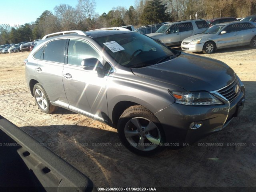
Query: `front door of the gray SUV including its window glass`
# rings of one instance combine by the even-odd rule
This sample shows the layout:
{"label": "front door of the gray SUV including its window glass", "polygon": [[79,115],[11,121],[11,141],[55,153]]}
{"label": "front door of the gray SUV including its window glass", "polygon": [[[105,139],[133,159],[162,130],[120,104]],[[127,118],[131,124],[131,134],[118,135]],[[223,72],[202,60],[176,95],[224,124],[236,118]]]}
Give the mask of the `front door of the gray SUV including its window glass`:
{"label": "front door of the gray SUV including its window glass", "polygon": [[97,71],[82,68],[81,62],[86,58],[97,58],[103,63],[103,58],[92,44],[70,39],[62,73],[69,109],[107,122],[107,76],[98,76]]}

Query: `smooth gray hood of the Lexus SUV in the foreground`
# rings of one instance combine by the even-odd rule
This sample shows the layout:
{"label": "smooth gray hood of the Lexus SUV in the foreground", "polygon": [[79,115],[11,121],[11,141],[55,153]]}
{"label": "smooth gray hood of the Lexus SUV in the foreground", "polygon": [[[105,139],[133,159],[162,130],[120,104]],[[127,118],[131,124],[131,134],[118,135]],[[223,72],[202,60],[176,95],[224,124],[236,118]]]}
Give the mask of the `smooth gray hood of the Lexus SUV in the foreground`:
{"label": "smooth gray hood of the Lexus SUV in the foreground", "polygon": [[187,91],[218,90],[230,84],[236,77],[232,68],[221,61],[186,53],[153,66],[133,68],[132,72]]}

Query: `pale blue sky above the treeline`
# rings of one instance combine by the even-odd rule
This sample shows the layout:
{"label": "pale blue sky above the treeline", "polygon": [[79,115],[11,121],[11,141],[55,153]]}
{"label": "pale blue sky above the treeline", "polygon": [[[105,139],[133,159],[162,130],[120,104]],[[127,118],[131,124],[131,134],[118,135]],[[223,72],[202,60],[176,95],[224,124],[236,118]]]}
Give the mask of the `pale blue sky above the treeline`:
{"label": "pale blue sky above the treeline", "polygon": [[[123,6],[129,9],[134,6],[134,0],[95,0],[96,13],[108,13],[113,7]],[[31,24],[44,12],[49,10],[54,14],[54,7],[69,4],[76,7],[78,0],[0,0],[0,27],[10,25],[16,27],[25,23]]]}

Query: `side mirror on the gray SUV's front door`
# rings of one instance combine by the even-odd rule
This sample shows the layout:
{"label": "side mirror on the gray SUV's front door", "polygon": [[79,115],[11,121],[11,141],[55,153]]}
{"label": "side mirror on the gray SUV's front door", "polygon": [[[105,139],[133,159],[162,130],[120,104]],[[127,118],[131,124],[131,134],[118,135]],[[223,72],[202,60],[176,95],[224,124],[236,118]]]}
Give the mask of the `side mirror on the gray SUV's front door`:
{"label": "side mirror on the gray SUV's front door", "polygon": [[98,77],[105,76],[103,65],[96,58],[83,59],[81,62],[81,66],[83,69],[88,70],[88,71],[97,71]]}

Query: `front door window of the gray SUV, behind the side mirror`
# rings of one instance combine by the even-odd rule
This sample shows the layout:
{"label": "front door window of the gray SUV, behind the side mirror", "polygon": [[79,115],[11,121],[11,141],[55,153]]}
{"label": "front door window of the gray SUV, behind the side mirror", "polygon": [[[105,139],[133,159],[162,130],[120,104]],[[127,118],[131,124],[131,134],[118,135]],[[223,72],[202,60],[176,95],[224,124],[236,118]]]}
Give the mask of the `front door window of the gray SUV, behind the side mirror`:
{"label": "front door window of the gray SUV, behind the side mirror", "polygon": [[102,58],[90,44],[80,40],[69,40],[67,63],[80,66],[86,58],[97,58],[102,62]]}

